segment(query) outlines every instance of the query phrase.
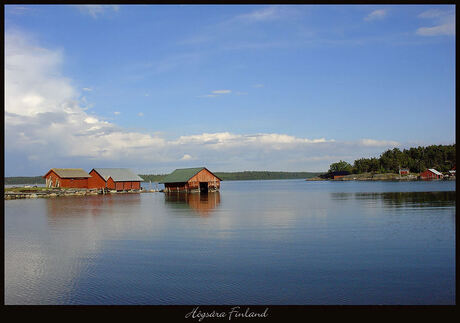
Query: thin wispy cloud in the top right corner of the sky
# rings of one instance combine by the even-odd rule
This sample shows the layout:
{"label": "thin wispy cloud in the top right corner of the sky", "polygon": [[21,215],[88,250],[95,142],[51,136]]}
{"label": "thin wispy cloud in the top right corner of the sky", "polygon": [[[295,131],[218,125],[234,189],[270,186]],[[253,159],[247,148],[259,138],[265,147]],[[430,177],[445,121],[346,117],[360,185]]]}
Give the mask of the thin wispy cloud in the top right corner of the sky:
{"label": "thin wispy cloud in the top right corner of the sky", "polygon": [[421,19],[431,19],[435,25],[430,27],[418,28],[415,32],[417,35],[455,35],[455,13],[452,11],[431,9],[422,12],[418,17]]}

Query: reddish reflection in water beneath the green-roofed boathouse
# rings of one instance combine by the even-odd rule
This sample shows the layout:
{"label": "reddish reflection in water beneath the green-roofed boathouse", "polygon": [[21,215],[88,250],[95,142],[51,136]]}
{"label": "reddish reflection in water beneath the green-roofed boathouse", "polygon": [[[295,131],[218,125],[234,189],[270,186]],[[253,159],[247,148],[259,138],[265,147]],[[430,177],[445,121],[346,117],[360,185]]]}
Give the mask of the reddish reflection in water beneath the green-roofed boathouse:
{"label": "reddish reflection in water beneath the green-roofed boathouse", "polygon": [[174,209],[191,208],[199,216],[207,217],[220,204],[220,192],[165,193],[165,204]]}

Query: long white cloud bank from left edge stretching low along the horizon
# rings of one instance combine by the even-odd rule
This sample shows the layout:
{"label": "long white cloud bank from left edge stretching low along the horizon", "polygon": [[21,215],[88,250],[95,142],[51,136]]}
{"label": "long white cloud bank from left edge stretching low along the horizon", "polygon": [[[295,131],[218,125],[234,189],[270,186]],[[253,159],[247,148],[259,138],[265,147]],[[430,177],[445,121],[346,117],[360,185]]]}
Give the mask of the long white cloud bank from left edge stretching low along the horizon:
{"label": "long white cloud bank from left edge stretching low along the horizon", "polygon": [[130,167],[153,173],[197,165],[217,171],[321,171],[339,159],[399,145],[232,132],[167,140],[153,130],[126,130],[88,112],[78,99],[78,87],[61,73],[64,57],[62,51],[43,48],[22,33],[6,34],[5,176],[38,175],[52,167]]}

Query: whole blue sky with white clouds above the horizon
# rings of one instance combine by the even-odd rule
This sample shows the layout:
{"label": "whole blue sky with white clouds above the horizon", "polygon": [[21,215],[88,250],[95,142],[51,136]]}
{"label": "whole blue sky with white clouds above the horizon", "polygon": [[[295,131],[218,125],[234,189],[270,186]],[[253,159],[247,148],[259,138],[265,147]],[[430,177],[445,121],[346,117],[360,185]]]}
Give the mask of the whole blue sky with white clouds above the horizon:
{"label": "whole blue sky with white clouds above the horizon", "polygon": [[453,5],[7,5],[5,176],[455,143]]}

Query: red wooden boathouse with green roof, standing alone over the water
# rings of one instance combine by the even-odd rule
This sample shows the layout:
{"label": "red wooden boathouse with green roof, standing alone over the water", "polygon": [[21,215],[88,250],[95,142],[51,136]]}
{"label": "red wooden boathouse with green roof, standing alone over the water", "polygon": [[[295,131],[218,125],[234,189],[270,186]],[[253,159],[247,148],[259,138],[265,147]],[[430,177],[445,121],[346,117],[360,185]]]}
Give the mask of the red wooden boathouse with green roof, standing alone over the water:
{"label": "red wooden boathouse with green roof, standing alone over the water", "polygon": [[180,168],[166,176],[163,181],[165,192],[218,191],[221,179],[206,167]]}

